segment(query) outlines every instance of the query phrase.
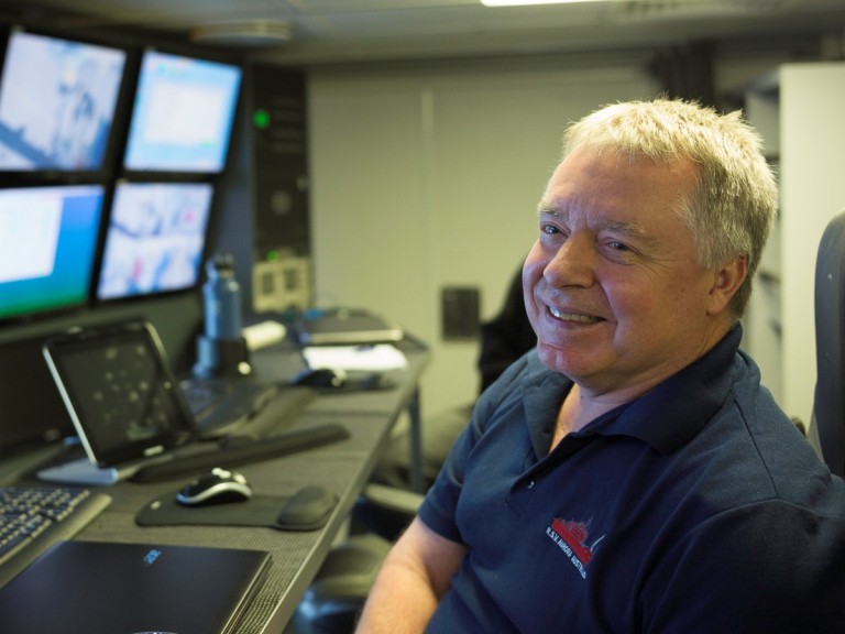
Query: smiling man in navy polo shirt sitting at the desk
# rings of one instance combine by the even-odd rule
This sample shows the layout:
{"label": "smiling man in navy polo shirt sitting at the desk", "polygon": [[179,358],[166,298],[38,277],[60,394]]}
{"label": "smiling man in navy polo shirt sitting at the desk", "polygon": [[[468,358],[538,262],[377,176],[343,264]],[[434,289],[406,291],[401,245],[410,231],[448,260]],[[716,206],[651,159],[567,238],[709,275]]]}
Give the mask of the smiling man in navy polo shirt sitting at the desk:
{"label": "smiling man in navy polo shirt sitting at the desk", "polygon": [[776,204],[738,113],[569,129],[523,273],[537,348],[479,400],[359,632],[845,631],[845,483],[738,350]]}

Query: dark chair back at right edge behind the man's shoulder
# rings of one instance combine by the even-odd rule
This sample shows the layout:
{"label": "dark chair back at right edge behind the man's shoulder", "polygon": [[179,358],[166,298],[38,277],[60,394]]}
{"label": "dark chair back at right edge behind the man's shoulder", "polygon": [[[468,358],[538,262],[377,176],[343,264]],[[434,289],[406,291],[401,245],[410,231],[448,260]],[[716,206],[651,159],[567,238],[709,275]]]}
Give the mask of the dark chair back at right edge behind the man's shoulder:
{"label": "dark chair back at right edge behind the man's shoulder", "polygon": [[845,209],[827,223],[815,261],[816,382],[810,440],[845,471]]}

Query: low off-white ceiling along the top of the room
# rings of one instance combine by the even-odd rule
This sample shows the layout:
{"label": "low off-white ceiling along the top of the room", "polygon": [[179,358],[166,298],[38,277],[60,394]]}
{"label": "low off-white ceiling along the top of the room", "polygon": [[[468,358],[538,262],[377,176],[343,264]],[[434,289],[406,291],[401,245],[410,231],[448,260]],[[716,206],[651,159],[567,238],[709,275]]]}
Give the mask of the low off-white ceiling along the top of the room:
{"label": "low off-white ceiling along the top of the room", "polygon": [[[542,54],[824,34],[842,56],[845,0],[608,0],[486,8],[479,0],[0,0],[0,18],[64,32],[211,31],[281,64]],[[208,36],[209,33],[206,33]]]}

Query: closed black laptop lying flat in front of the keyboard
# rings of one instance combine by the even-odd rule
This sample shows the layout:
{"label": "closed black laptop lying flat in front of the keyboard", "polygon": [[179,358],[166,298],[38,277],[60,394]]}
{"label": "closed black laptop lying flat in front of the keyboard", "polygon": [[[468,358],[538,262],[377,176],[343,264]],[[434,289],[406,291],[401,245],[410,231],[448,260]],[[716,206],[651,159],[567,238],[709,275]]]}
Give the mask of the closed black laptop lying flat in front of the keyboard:
{"label": "closed black laptop lying flat in front of the keyboard", "polygon": [[0,589],[0,632],[229,634],[268,553],[59,542]]}

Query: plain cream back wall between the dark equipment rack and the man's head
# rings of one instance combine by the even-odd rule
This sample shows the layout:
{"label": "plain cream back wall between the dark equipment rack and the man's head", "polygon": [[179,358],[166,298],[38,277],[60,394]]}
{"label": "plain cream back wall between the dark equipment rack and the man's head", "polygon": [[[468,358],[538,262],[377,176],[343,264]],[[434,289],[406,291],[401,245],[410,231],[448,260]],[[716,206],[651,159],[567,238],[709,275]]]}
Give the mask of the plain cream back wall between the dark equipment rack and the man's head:
{"label": "plain cream back wall between the dark equipment rack and the man's head", "polygon": [[658,88],[640,58],[323,69],[309,79],[318,305],[363,306],[431,346],[424,413],[472,401],[478,345],[440,337],[440,291],[482,317],[536,236],[566,124]]}

